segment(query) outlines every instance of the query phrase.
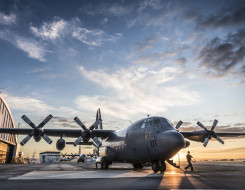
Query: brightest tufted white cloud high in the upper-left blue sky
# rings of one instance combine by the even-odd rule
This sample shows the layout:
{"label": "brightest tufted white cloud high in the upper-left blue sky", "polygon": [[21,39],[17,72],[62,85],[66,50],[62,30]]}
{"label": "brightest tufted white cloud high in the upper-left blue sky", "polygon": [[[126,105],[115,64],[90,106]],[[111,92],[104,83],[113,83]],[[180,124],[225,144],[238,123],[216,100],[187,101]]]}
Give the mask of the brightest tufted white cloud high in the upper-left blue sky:
{"label": "brightest tufted white cloud high in the upper-left blue sky", "polygon": [[31,26],[30,29],[36,36],[44,40],[54,40],[62,35],[67,26],[68,23],[66,21],[55,18],[55,20],[50,23],[44,22],[40,28]]}

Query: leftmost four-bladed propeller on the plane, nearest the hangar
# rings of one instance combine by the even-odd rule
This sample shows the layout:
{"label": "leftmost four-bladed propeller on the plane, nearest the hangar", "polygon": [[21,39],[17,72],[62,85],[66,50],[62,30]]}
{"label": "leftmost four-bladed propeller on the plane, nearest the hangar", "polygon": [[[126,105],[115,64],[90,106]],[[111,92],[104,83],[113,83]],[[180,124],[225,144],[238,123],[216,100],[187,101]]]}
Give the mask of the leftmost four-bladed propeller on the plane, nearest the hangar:
{"label": "leftmost four-bladed propeller on the plane, nearest the hangar", "polygon": [[31,126],[32,132],[27,135],[21,142],[20,144],[24,146],[30,139],[33,137],[35,141],[39,141],[41,137],[48,143],[51,144],[53,141],[43,132],[43,126],[49,122],[49,120],[53,116],[50,114],[48,115],[38,126],[36,126],[26,115],[22,115],[21,118]]}

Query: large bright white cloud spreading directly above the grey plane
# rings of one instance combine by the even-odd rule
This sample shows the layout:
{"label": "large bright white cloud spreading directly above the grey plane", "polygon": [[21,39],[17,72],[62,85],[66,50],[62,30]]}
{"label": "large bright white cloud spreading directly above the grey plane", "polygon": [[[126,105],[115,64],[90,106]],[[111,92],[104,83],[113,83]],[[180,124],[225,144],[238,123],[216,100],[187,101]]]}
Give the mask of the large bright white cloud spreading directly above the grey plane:
{"label": "large bright white cloud spreading directly above the grey plane", "polygon": [[200,96],[184,85],[168,86],[179,72],[175,68],[121,68],[112,74],[103,70],[88,71],[80,67],[81,74],[106,90],[107,96],[78,96],[78,109],[96,110],[98,107],[112,117],[128,119],[139,115],[163,113],[169,107],[196,104]]}

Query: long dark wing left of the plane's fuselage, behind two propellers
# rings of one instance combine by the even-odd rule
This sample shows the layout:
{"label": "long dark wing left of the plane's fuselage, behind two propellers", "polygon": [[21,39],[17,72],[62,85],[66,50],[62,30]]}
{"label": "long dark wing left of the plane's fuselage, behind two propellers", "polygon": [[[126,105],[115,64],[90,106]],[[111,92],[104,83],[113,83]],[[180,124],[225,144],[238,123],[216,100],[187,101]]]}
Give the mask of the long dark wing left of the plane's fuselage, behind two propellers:
{"label": "long dark wing left of the plane's fuselage, behind two propellers", "polygon": [[[0,128],[0,133],[15,134],[15,135],[28,135],[33,131],[29,128]],[[81,136],[81,129],[43,129],[43,132],[48,136],[54,137],[74,137]],[[95,137],[105,139],[115,133],[115,130],[94,129],[92,131]]]}

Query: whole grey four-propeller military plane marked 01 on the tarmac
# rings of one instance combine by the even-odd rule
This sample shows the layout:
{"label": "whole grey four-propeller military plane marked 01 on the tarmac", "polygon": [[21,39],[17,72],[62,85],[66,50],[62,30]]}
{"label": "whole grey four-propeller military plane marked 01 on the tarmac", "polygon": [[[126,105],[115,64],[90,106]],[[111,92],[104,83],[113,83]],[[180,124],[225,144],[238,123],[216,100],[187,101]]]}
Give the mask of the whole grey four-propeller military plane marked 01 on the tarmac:
{"label": "whole grey four-propeller military plane marked 01 on the tarmac", "polygon": [[[57,136],[56,148],[63,150],[65,140],[63,137],[77,138],[73,145],[93,144],[101,157],[101,168],[108,169],[112,162],[131,163],[135,169],[143,168],[145,164],[151,163],[154,172],[164,172],[166,170],[165,161],[169,161],[182,148],[190,145],[192,141],[202,142],[206,147],[213,137],[220,143],[224,141],[220,137],[240,136],[245,133],[215,133],[214,128],[218,121],[214,120],[211,130],[208,130],[202,123],[197,125],[203,130],[192,132],[180,132],[178,129],[182,125],[179,121],[176,127],[164,117],[147,117],[132,123],[130,126],[119,131],[104,130],[102,127],[101,112],[98,109],[96,121],[87,128],[78,117],[74,121],[82,129],[43,129],[43,126],[52,118],[47,116],[38,126],[25,115],[22,119],[31,126],[29,128],[0,128],[0,133],[27,134],[20,144],[25,145],[31,137],[36,142],[43,138],[48,144],[52,143],[49,136]],[[93,142],[89,142],[92,139]]]}

